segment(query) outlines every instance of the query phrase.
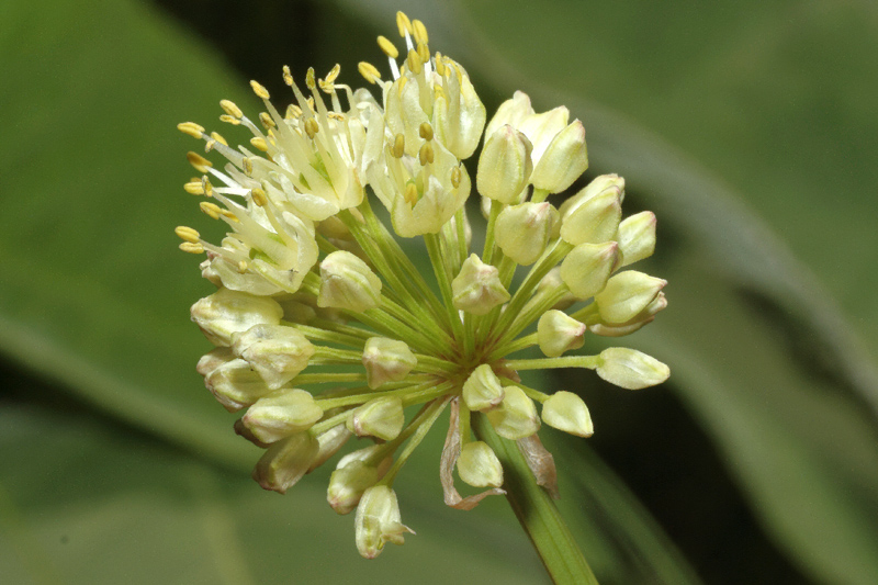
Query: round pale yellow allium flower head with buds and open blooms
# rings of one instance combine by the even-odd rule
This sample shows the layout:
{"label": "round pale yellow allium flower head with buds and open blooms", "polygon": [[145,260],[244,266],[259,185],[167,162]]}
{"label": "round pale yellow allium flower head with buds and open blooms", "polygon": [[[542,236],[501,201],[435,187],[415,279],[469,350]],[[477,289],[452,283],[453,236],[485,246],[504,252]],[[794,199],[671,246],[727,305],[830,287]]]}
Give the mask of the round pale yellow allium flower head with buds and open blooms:
{"label": "round pale yellow allium flower head with buds and open blooms", "polygon": [[[357,509],[357,545],[368,558],[410,532],[393,482],[443,410],[451,413],[444,499],[470,509],[504,493],[500,461],[471,429],[476,417],[518,443],[550,492],[541,424],[593,434],[577,394],[544,394],[518,372],[585,368],[624,389],[668,376],[666,365],[631,349],[564,356],[588,335],[635,331],[666,306],[664,280],[620,271],[653,252],[655,216],[622,220],[624,181],[614,175],[560,209],[545,201],[587,167],[582,123],[569,123],[565,108],[537,114],[517,92],[483,136],[485,109],[463,67],[430,54],[421,22],[398,13],[397,25],[403,52],[379,37],[390,79],[359,67],[380,101],[338,83],[338,66],[324,79],[308,70],[305,92],[284,68],[293,103],[283,114],[256,81],[266,111],[254,120],[221,102],[221,120],[247,128],[249,145],[179,126],[226,159],[219,170],[190,153],[202,176],[185,184],[204,198],[206,215],[227,224],[226,237],[210,244],[177,228],[183,250],[206,252],[202,274],[217,286],[192,306],[216,346],[198,370],[224,407],[244,410],[235,430],[266,449],[254,471],[266,490],[284,493],[358,437],[333,473],[328,500],[339,514]],[[470,249],[464,204],[473,185],[462,165],[480,140],[481,255]],[[397,239],[415,236],[434,274],[423,274]],[[515,357],[531,347],[545,357]],[[455,468],[486,491],[462,497]]]}

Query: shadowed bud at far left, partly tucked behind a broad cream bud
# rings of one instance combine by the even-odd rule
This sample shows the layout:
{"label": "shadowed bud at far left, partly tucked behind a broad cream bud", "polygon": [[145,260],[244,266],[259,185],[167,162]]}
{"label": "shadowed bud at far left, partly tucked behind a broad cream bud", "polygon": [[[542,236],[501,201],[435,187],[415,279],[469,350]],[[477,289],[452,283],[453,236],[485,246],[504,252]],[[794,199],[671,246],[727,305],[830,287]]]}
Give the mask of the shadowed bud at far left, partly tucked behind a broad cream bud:
{"label": "shadowed bud at far left, partly tucked behind a broad cream bud", "polygon": [[264,380],[228,348],[217,348],[201,358],[196,370],[204,385],[226,410],[234,413],[271,393]]}

